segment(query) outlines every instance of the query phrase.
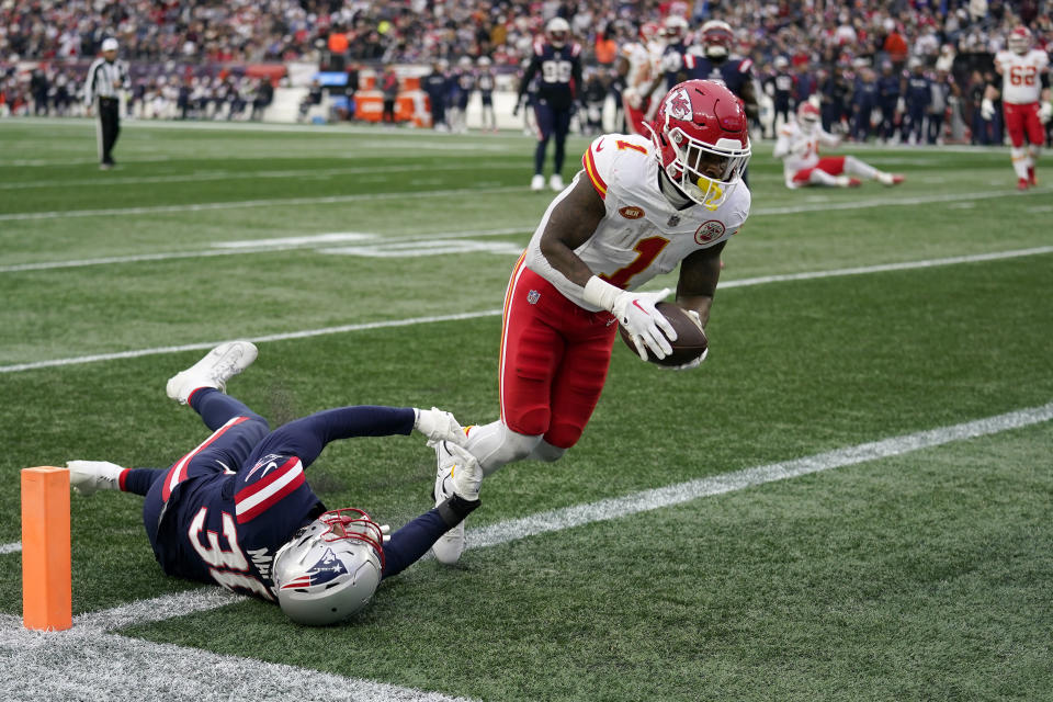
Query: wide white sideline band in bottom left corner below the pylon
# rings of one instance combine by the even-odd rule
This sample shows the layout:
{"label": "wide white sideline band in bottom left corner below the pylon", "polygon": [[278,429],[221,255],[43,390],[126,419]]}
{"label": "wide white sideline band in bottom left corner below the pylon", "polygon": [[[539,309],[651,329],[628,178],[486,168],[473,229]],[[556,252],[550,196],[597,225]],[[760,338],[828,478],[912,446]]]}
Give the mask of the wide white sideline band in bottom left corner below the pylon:
{"label": "wide white sideline band in bottom left corner below the pylon", "polygon": [[11,615],[0,619],[0,631],[3,632],[0,658],[4,660],[0,699],[5,702],[464,700],[284,664],[157,644],[76,625],[65,632],[29,631]]}

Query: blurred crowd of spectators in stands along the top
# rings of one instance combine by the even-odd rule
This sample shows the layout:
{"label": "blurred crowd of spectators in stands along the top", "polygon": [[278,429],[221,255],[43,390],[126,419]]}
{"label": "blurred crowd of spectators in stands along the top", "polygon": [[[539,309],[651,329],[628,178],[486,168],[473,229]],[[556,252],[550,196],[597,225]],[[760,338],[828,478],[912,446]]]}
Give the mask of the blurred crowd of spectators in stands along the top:
{"label": "blurred crowd of spectators in stands along the top", "polygon": [[[734,52],[752,59],[777,118],[817,95],[826,126],[857,140],[1001,143],[997,120],[977,118],[984,86],[996,80],[992,57],[1018,23],[1035,46],[1053,48],[1051,13],[1053,0],[5,0],[0,114],[16,104],[22,114],[69,113],[82,82],[77,60],[95,56],[106,36],[133,67],[143,116],[251,118],[273,83],[237,67],[305,61],[381,72],[441,60],[453,72],[462,59],[486,57],[507,75],[557,15],[582,46],[595,101],[618,91],[621,48],[645,23],[676,14],[692,30],[713,18],[734,27]],[[39,61],[30,81],[15,70],[25,61]],[[924,107],[920,89],[909,94],[914,76],[929,81]],[[928,126],[907,135],[919,109]],[[933,133],[928,115],[937,113]]]}

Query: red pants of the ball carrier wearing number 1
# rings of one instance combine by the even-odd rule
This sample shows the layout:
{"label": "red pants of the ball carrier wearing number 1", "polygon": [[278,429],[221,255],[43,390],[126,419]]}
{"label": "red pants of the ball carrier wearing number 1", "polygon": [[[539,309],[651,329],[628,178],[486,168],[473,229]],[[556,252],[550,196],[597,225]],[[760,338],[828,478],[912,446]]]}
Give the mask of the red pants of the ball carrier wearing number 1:
{"label": "red pants of the ball carrier wearing number 1", "polygon": [[569,449],[603,392],[618,322],[567,299],[520,258],[505,296],[501,421]]}

